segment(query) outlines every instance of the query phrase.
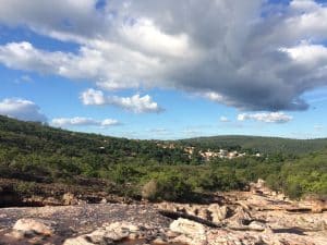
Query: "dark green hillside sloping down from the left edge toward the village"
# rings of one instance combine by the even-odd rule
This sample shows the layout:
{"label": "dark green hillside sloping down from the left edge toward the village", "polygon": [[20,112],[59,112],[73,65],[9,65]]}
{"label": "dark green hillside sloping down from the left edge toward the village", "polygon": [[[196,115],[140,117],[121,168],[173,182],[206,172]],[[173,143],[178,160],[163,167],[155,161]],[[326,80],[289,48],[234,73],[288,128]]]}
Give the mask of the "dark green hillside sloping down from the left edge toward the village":
{"label": "dark green hillside sloping down from the left edge toward the village", "polygon": [[189,161],[182,149],[165,149],[153,140],[75,133],[0,117],[0,176],[17,170],[20,177],[31,174],[34,179],[71,174],[97,177],[120,163]]}

